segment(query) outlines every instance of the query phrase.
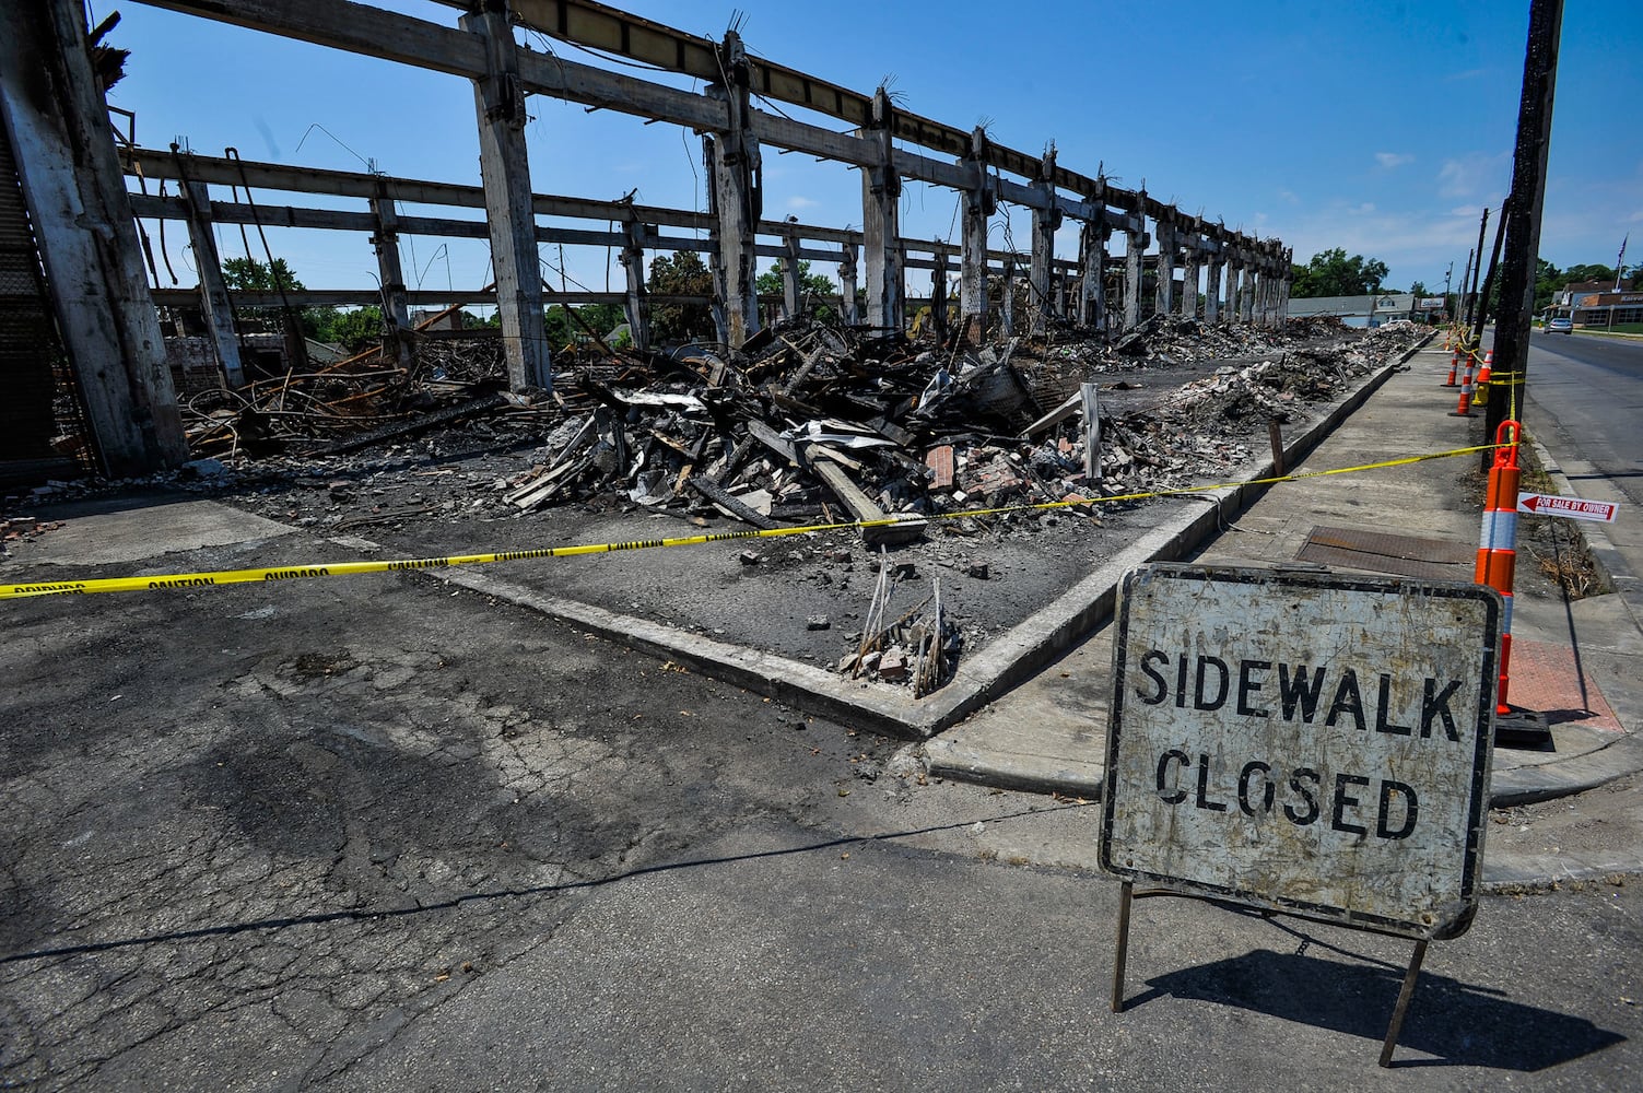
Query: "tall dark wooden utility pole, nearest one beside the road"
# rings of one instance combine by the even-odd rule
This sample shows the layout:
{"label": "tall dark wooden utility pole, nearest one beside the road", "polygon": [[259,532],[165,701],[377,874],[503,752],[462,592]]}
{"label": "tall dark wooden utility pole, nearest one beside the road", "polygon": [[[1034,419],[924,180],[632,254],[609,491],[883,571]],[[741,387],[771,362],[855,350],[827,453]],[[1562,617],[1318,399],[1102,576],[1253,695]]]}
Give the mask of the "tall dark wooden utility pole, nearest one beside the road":
{"label": "tall dark wooden utility pole, nearest one beside the road", "polygon": [[[1535,258],[1539,255],[1541,205],[1546,197],[1546,153],[1551,145],[1551,107],[1558,84],[1558,41],[1562,0],[1530,0],[1530,35],[1523,54],[1523,95],[1518,102],[1518,140],[1507,202],[1505,261],[1500,271],[1500,316],[1495,321],[1495,375],[1484,439],[1493,442],[1500,422],[1521,414],[1523,380],[1530,363],[1530,317],[1535,311]],[[1493,452],[1484,452],[1485,470]]]}

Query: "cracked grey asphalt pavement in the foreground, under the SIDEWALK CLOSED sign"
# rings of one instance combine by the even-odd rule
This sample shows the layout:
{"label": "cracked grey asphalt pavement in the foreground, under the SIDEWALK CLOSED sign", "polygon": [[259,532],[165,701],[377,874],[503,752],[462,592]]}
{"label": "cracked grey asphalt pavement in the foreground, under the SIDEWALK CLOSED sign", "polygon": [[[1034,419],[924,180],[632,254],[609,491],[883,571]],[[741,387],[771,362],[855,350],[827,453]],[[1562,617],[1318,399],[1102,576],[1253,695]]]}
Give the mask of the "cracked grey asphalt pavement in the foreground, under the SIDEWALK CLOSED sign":
{"label": "cracked grey asphalt pavement in the foreground, under the SIDEWALK CLOSED sign", "polygon": [[7,1088],[1643,1081],[1627,878],[1485,897],[1387,1073],[1408,942],[1145,901],[1112,1014],[1094,809],[427,575],[7,610]]}

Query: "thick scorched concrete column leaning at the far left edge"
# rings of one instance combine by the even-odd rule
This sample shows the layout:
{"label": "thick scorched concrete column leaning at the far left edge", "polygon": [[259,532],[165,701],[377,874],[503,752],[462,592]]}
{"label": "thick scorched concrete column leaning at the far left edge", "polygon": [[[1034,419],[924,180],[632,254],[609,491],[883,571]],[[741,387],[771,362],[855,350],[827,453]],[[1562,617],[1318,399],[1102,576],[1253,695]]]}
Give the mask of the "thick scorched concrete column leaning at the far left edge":
{"label": "thick scorched concrete column leaning at the far left edge", "polygon": [[7,7],[0,123],[104,470],[181,463],[189,447],[166,342],[79,0]]}

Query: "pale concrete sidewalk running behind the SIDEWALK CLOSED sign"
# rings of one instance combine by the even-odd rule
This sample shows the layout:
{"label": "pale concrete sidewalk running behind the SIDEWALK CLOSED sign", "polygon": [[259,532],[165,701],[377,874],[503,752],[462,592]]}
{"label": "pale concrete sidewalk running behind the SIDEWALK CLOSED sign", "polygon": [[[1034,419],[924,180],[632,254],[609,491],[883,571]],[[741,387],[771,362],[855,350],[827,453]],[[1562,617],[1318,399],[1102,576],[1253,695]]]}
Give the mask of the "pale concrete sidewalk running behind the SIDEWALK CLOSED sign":
{"label": "pale concrete sidewalk running behind the SIDEWALK CLOSED sign", "polygon": [[[1291,470],[1354,467],[1480,442],[1477,419],[1446,413],[1456,401],[1451,391],[1438,390],[1447,358],[1438,345],[1416,353],[1406,370],[1388,376]],[[1558,493],[1574,493],[1549,455],[1541,452],[1541,459]],[[1367,544],[1360,567],[1342,564],[1337,552],[1329,562],[1334,570],[1385,574],[1375,569],[1374,536],[1408,536],[1431,541],[1423,556],[1429,575],[1472,580],[1479,506],[1467,478],[1477,465],[1475,455],[1464,455],[1283,483],[1213,534],[1194,560],[1296,564],[1308,536],[1328,528],[1341,533],[1336,539]],[[1599,526],[1582,524],[1581,531],[1592,539],[1602,565],[1623,565],[1607,549]],[[1636,587],[1631,575],[1610,575],[1622,593],[1579,602],[1515,597],[1508,699],[1549,723],[1551,743],[1497,748],[1497,807],[1581,792],[1643,769],[1643,741],[1627,731],[1643,725],[1643,633],[1636,621],[1643,613],[1630,603]],[[948,777],[1098,797],[1111,690],[1107,625],[1029,682],[922,745],[925,759],[933,772]]]}

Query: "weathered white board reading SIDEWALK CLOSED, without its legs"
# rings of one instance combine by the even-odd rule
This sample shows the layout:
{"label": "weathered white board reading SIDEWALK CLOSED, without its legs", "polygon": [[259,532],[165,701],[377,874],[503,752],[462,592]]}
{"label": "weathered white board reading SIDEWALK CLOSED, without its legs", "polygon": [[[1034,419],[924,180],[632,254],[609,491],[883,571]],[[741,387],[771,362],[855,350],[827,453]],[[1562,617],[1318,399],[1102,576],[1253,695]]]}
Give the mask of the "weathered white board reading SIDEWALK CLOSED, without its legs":
{"label": "weathered white board reading SIDEWALK CLOSED, without its legs", "polygon": [[1502,610],[1459,582],[1132,570],[1102,869],[1405,937],[1464,934]]}

